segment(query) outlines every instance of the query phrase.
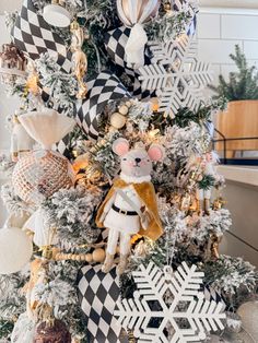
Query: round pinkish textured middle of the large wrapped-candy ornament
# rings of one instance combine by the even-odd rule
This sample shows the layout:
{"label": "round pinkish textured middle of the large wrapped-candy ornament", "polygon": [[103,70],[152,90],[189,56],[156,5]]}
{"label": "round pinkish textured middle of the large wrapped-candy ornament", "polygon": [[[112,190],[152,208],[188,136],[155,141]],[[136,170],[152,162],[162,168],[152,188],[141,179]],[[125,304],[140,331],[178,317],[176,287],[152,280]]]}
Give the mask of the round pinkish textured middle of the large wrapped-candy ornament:
{"label": "round pinkish textured middle of the large wrapped-candy ornament", "polygon": [[16,163],[12,181],[23,201],[39,204],[61,188],[70,188],[74,175],[69,161],[50,151],[34,151]]}

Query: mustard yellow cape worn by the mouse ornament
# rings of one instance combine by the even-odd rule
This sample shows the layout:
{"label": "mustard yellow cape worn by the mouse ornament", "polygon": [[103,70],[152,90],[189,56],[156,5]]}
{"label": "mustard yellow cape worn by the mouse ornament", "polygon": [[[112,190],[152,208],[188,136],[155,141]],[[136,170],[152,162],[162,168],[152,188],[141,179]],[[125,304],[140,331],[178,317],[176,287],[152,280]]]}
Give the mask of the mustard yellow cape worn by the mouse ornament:
{"label": "mustard yellow cape worn by the mouse ornament", "polygon": [[144,203],[149,214],[151,215],[151,221],[146,229],[142,227],[139,230],[139,235],[146,236],[153,240],[156,240],[162,234],[162,223],[159,216],[157,203],[156,203],[156,194],[152,182],[142,182],[142,184],[127,184],[121,179],[115,180],[113,187],[110,188],[109,192],[107,193],[104,202],[102,203],[101,208],[97,211],[96,215],[96,224],[98,227],[103,227],[104,224],[99,221],[102,213],[105,209],[107,201],[113,197],[115,193],[116,188],[124,189],[125,187],[132,186]]}

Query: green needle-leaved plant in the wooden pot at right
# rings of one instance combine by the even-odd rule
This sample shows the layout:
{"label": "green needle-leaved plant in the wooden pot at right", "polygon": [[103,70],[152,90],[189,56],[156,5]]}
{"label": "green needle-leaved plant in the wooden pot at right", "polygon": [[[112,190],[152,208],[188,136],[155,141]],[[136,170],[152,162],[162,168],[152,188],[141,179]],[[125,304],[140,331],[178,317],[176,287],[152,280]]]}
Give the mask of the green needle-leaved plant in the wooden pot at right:
{"label": "green needle-leaved plant in the wooden pot at right", "polygon": [[258,99],[258,72],[255,66],[249,67],[245,54],[239,46],[235,46],[235,55],[230,55],[237,67],[236,72],[230,73],[226,82],[223,75],[219,76],[219,86],[210,86],[218,97],[225,97],[228,102]]}

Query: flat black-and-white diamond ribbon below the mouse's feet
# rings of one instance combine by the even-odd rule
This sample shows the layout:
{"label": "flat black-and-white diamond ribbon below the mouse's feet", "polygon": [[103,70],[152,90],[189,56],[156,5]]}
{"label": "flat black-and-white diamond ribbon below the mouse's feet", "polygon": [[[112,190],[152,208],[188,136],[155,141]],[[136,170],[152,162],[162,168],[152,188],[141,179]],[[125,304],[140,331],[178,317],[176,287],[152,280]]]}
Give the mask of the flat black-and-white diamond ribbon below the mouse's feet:
{"label": "flat black-and-white diamond ribbon below the mouse's feet", "polygon": [[102,265],[85,265],[79,272],[79,300],[86,316],[89,343],[126,343],[125,332],[114,317],[119,298],[119,279],[114,268],[102,272]]}

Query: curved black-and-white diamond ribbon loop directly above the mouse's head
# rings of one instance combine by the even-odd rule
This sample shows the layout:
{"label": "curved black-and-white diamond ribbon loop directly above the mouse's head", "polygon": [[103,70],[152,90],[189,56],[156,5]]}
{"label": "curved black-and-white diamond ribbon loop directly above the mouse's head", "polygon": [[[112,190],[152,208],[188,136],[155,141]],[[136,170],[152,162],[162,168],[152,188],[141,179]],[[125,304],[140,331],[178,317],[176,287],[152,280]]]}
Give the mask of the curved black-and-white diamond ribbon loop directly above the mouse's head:
{"label": "curved black-and-white diamond ribbon loop directly above the mouse's head", "polygon": [[119,79],[108,71],[103,71],[89,81],[86,98],[80,102],[77,108],[77,121],[89,139],[98,139],[98,119],[105,106],[112,100],[130,97],[131,94]]}

